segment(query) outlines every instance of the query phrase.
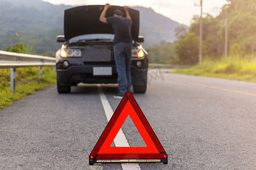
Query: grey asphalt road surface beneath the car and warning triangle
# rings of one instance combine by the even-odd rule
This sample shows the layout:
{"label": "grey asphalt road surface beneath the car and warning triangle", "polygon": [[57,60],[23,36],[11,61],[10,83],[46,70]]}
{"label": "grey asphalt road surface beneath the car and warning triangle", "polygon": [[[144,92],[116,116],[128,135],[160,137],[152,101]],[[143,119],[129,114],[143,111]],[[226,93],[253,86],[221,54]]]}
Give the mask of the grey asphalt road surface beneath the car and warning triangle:
{"label": "grey asphalt road surface beneath the car and warning triangle", "polygon": [[[256,84],[151,70],[146,94],[134,94],[168,164],[94,164],[88,156],[115,111],[117,84],[56,86],[0,111],[0,169],[256,169]],[[162,74],[162,75],[160,75]],[[154,74],[150,74],[154,75]],[[131,119],[129,146],[145,145]]]}

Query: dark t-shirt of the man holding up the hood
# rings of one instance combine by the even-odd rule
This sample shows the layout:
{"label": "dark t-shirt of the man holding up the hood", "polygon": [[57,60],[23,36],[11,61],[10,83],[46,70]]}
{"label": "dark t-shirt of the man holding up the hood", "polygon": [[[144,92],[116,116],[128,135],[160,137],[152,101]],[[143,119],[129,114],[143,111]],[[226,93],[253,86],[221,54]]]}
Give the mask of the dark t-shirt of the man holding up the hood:
{"label": "dark t-shirt of the man holding up the hood", "polygon": [[114,44],[118,42],[132,43],[131,38],[131,20],[121,16],[110,16],[106,22],[112,24],[114,29]]}

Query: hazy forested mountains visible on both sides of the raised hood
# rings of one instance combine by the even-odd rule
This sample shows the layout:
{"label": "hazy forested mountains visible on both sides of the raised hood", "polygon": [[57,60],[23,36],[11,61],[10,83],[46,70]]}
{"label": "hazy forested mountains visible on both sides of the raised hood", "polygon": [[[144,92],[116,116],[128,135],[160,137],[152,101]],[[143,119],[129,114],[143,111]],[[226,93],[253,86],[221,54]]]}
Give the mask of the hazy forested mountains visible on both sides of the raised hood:
{"label": "hazy forested mountains visible on both sides of the raised hood", "polygon": [[[64,32],[64,10],[71,7],[40,0],[0,0],[0,49],[23,42],[34,44],[36,54],[54,54],[60,48],[56,36]],[[175,40],[174,29],[181,24],[151,8],[131,8],[140,11],[140,35],[144,36],[144,47]]]}

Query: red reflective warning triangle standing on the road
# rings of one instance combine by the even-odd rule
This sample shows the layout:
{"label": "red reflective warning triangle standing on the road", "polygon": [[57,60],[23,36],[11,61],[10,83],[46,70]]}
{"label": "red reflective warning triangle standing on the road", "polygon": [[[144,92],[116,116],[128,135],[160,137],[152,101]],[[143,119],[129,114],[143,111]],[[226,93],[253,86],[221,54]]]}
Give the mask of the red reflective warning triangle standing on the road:
{"label": "red reflective warning triangle standing on the road", "polygon": [[[146,147],[112,147],[112,142],[127,116],[134,122]],[[94,163],[168,163],[166,151],[156,137],[131,92],[127,91],[110,119],[100,139],[89,155]]]}

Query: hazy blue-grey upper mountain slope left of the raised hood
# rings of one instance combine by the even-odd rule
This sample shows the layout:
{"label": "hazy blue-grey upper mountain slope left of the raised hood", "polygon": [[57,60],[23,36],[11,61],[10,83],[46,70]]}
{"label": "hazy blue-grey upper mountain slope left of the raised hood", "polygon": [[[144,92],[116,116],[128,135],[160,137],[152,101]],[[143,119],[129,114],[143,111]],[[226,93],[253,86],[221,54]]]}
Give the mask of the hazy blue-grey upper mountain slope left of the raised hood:
{"label": "hazy blue-grey upper mountain slope left of the raised hood", "polygon": [[63,27],[64,10],[69,7],[40,0],[0,0],[0,33],[44,32]]}

